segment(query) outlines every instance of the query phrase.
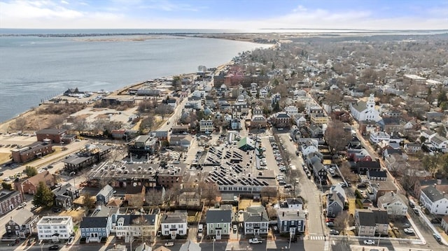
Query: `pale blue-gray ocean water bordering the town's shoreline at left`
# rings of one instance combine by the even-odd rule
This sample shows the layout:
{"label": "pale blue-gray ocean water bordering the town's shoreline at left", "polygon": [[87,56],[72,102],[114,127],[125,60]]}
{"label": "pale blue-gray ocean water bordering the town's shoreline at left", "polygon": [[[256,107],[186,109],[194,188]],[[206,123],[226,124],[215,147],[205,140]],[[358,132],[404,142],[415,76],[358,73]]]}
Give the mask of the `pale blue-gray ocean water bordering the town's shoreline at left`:
{"label": "pale blue-gray ocean water bordering the town's shoreline at left", "polygon": [[[0,35],[36,34],[36,30],[11,31],[1,29]],[[0,122],[71,87],[112,91],[152,78],[193,73],[200,65],[215,67],[239,52],[269,46],[165,35],[133,39],[140,37],[0,36]]]}

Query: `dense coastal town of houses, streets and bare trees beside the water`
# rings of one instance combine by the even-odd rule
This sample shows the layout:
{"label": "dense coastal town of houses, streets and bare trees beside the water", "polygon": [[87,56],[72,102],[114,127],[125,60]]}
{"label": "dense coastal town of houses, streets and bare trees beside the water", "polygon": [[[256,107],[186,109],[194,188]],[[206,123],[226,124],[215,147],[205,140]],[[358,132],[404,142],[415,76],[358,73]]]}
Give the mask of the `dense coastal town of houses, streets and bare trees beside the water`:
{"label": "dense coastal town of houses, streets and bare trees beside the water", "polygon": [[0,250],[446,250],[447,40],[272,36],[4,123]]}

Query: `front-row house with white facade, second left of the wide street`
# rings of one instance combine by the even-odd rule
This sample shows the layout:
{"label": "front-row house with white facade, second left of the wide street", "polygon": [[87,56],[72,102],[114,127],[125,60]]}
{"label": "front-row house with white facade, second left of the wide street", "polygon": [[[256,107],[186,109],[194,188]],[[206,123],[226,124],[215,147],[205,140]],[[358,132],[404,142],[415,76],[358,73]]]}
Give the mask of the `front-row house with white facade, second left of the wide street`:
{"label": "front-row house with white facade, second left of the wide street", "polygon": [[243,213],[244,217],[244,234],[260,236],[267,234],[269,230],[269,217],[267,216],[265,207],[250,206]]}

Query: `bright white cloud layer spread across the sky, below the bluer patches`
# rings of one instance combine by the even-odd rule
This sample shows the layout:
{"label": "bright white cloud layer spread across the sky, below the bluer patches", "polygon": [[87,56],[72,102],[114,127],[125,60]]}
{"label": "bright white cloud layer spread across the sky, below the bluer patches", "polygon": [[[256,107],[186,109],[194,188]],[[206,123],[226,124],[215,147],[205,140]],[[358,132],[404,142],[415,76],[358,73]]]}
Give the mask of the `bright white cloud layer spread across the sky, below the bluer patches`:
{"label": "bright white cloud layer spread across the sky, below the bluer patches", "polygon": [[[0,0],[0,24],[5,28],[55,29],[448,29],[447,6],[429,6],[413,16],[379,17],[378,12],[384,12],[381,6],[378,10],[354,10],[351,7],[335,10],[299,5],[275,17],[247,15],[237,18],[232,16],[231,4],[228,4],[229,9],[224,5],[221,10],[210,8],[207,1],[199,3],[178,3],[176,0]],[[205,18],[200,15],[204,9],[212,14],[228,13],[228,17]]]}

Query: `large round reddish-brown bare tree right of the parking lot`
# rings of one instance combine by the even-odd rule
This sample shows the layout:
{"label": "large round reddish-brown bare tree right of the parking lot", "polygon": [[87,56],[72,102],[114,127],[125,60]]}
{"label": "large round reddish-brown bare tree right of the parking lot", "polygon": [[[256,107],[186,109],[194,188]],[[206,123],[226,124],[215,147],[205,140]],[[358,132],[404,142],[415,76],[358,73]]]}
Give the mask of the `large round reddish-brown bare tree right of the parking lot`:
{"label": "large round reddish-brown bare tree right of the parking lot", "polygon": [[325,141],[327,141],[332,152],[342,151],[351,141],[351,131],[344,129],[343,122],[332,120],[325,131]]}

